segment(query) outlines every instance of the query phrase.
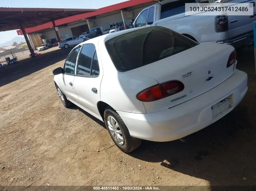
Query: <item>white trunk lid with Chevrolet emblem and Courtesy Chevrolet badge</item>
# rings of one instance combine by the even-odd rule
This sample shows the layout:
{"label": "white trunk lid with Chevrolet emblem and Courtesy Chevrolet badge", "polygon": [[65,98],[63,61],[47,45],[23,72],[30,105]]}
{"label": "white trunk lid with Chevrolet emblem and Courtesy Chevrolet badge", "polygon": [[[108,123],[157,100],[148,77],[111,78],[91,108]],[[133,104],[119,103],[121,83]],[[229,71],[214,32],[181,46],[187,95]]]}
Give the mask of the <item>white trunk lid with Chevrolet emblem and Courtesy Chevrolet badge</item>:
{"label": "white trunk lid with Chevrolet emblem and Courtesy Chevrolet badge", "polygon": [[234,67],[227,68],[228,58],[233,50],[229,45],[202,43],[127,72],[148,76],[159,84],[181,81],[184,90],[165,98],[170,108],[211,90],[233,75]]}

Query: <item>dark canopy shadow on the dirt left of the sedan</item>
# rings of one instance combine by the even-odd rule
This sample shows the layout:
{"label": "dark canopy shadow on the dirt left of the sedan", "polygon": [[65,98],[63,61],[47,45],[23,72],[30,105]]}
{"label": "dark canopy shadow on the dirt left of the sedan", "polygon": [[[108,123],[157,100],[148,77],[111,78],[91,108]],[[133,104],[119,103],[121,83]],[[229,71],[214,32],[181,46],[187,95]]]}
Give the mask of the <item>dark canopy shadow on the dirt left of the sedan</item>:
{"label": "dark canopy shadow on the dirt left of the sedan", "polygon": [[38,58],[28,58],[4,65],[0,68],[0,87],[65,59],[70,51],[71,49],[58,49],[44,53]]}

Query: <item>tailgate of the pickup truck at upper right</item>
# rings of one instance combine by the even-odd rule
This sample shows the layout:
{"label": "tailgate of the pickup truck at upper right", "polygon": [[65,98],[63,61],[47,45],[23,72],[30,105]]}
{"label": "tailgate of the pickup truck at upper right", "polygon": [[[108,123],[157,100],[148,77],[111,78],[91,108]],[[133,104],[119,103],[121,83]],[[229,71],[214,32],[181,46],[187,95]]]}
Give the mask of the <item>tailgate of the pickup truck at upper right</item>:
{"label": "tailgate of the pickup truck at upper right", "polygon": [[[238,3],[241,1],[234,0],[231,3]],[[241,3],[256,3],[256,0],[242,1]],[[228,2],[229,3],[229,2]],[[253,8],[253,12],[256,13],[256,6]],[[228,34],[229,38],[239,36],[243,33],[247,33],[253,30],[253,22],[256,21],[256,14],[251,16],[240,15],[228,15]]]}

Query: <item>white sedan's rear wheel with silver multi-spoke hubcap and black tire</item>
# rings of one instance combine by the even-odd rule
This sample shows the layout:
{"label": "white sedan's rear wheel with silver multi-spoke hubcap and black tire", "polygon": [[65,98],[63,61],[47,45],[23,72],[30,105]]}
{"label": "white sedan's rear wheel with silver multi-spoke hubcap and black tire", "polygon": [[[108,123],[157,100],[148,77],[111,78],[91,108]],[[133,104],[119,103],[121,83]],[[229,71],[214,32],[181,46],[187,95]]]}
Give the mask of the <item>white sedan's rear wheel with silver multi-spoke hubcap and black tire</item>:
{"label": "white sedan's rear wheel with silver multi-spoke hubcap and black tire", "polygon": [[121,151],[129,153],[141,145],[141,139],[130,135],[122,118],[113,108],[105,109],[104,120],[109,135]]}

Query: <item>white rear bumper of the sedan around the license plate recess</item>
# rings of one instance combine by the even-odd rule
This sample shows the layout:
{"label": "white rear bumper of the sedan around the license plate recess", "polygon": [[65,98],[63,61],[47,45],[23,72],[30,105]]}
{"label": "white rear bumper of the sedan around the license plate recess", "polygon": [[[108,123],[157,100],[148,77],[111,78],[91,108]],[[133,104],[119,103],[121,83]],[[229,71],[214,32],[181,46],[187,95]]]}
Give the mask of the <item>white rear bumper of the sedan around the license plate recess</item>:
{"label": "white rear bumper of the sedan around the license plate recess", "polygon": [[[127,113],[117,111],[130,135],[156,142],[176,140],[197,132],[225,116],[240,103],[247,92],[247,74],[237,72],[217,87],[170,109],[156,113]],[[211,107],[229,98],[231,108],[212,117]]]}

